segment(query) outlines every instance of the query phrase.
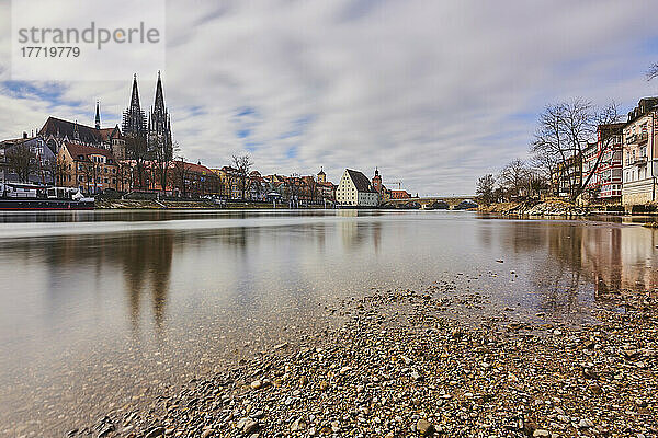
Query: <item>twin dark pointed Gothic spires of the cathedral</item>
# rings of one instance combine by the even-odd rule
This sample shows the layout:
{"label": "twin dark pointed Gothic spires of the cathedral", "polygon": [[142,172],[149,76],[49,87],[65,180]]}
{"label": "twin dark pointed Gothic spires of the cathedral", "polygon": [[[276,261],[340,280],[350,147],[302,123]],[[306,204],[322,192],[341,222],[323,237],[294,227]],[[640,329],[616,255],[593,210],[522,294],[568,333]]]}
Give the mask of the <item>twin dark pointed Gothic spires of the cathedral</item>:
{"label": "twin dark pointed Gothic spires of the cathedral", "polygon": [[148,116],[148,123],[139,102],[137,74],[135,74],[131,104],[123,114],[122,128],[125,137],[139,138],[147,142],[147,150],[151,159],[171,160],[173,158],[171,118],[164,105],[162,79],[159,71],[158,82],[156,83],[156,99]]}

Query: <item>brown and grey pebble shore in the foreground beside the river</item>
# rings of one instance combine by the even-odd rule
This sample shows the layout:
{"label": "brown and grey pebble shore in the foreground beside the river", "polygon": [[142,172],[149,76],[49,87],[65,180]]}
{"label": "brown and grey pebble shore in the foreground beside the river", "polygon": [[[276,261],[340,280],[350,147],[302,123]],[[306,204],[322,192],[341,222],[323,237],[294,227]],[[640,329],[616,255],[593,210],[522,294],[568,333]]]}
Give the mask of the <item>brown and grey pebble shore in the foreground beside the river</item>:
{"label": "brown and grey pebble shore in the foreground beside the river", "polygon": [[436,284],[328,307],[338,327],[160,388],[67,437],[658,436],[658,297],[599,298],[591,322],[465,322],[487,297]]}

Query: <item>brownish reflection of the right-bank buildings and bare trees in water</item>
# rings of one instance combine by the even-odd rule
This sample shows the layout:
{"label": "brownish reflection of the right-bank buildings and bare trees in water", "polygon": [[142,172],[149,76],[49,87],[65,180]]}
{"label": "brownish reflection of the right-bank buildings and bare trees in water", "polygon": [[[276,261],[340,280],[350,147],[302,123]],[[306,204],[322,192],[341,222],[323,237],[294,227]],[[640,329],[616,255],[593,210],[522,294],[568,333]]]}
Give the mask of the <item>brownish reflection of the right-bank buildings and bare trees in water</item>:
{"label": "brownish reflection of the right-bank buildings and bare trees in water", "polygon": [[566,315],[610,291],[658,287],[657,232],[616,222],[520,220],[497,227],[499,239],[492,227],[478,237],[484,246],[525,257],[538,308]]}

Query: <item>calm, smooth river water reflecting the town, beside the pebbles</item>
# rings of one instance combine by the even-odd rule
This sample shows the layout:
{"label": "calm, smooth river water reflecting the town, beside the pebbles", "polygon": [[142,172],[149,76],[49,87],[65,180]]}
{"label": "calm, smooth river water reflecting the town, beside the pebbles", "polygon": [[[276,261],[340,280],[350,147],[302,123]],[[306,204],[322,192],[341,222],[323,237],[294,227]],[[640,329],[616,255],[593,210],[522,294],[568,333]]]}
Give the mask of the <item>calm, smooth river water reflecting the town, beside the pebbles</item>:
{"label": "calm, smooth river water reflecting the town, beside the pebbles", "polygon": [[600,291],[658,286],[657,245],[637,224],[457,211],[4,214],[0,436],[60,436],[371,288],[450,280],[494,308],[587,318]]}

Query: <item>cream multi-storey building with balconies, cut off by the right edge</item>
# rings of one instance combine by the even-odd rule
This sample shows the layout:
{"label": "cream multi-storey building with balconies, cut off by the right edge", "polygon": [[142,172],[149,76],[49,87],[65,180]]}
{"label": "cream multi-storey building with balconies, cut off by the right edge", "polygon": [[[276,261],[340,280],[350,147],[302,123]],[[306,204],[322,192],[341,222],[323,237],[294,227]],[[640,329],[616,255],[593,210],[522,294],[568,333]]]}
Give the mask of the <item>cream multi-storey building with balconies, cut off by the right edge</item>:
{"label": "cream multi-storey building with balconies, cut off by the right edge", "polygon": [[623,130],[622,204],[656,204],[658,97],[640,99]]}

